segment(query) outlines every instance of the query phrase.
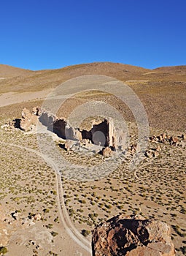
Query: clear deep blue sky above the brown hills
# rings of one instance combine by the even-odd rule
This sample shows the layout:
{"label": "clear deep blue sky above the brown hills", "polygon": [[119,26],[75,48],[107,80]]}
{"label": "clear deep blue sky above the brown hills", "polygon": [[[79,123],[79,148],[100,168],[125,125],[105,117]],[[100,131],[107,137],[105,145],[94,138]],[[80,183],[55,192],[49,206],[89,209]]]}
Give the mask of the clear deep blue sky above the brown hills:
{"label": "clear deep blue sky above the brown hills", "polygon": [[4,0],[0,64],[186,64],[185,0]]}

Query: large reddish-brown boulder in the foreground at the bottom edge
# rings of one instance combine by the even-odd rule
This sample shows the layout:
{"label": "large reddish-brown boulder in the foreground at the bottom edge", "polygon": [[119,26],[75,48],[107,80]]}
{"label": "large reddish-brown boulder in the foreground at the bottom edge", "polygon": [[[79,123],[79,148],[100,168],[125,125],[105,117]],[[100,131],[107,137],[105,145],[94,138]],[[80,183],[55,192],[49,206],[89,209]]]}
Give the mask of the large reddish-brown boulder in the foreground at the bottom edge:
{"label": "large reddish-brown boulder in the foreground at the bottom edge", "polygon": [[93,256],[173,256],[170,227],[165,222],[128,219],[122,214],[93,231]]}

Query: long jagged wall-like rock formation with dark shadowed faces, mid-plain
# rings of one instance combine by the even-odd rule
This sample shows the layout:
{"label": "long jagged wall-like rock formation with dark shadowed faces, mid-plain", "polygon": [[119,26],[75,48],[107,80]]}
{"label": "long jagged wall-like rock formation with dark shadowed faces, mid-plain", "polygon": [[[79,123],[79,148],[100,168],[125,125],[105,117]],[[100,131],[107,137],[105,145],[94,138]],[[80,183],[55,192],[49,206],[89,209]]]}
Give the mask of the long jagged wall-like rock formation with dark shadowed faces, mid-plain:
{"label": "long jagged wall-like rock formation with dark shadowed faces, mid-plain", "polygon": [[[66,118],[58,118],[53,113],[43,108],[33,108],[32,113],[26,108],[22,111],[20,129],[29,132],[36,129],[36,122],[40,121],[48,130],[54,132],[59,138],[72,140],[66,142],[70,150],[73,141],[80,141],[82,144],[95,144],[103,147],[101,151],[105,157],[112,155],[111,151],[125,149],[125,132],[116,129],[112,118],[92,121],[90,129],[71,127]],[[71,145],[71,146],[70,146]],[[104,150],[106,148],[106,150]]]}

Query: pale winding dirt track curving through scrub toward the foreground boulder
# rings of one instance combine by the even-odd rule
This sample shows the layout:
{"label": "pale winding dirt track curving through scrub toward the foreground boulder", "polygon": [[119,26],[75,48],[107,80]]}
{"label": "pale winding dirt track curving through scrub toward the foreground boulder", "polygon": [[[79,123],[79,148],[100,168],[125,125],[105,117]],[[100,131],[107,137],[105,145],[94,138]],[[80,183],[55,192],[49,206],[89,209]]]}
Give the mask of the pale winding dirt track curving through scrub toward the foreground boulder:
{"label": "pale winding dirt track curving through scrub toward the foreground boulder", "polygon": [[[19,146],[19,145],[15,145],[15,144],[12,144],[12,143],[0,142],[0,144],[16,147],[16,148],[20,148],[20,149],[25,149],[26,151],[30,151],[30,152],[36,154],[39,157],[43,157],[43,154],[41,154],[39,151],[36,151],[32,148]],[[80,234],[80,232],[74,227],[74,225],[72,224],[71,219],[69,217],[69,214],[66,210],[66,206],[65,206],[65,203],[64,203],[64,199],[63,199],[63,187],[62,187],[62,182],[61,182],[61,174],[59,173],[58,167],[55,165],[55,162],[53,162],[53,160],[50,159],[49,157],[44,156],[44,159],[47,161],[47,165],[49,165],[50,167],[53,167],[53,170],[55,170],[56,188],[57,188],[57,195],[58,195],[58,197],[57,197],[58,212],[60,214],[64,230],[66,231],[66,236],[67,236],[68,239],[74,240],[80,246],[81,252],[78,250],[78,253],[80,253],[80,255],[91,255],[90,241],[85,239]],[[64,233],[63,233],[63,235],[64,235]]]}

